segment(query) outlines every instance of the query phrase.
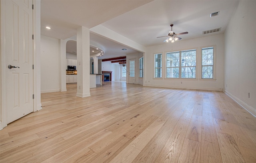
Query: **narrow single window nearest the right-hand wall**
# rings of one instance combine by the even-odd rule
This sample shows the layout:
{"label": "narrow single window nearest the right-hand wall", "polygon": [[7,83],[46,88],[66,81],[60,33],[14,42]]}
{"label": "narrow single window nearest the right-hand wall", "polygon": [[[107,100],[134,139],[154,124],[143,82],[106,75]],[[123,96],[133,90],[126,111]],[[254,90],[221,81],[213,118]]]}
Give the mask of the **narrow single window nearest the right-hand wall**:
{"label": "narrow single window nearest the right-hand wall", "polygon": [[202,48],[202,79],[213,79],[213,47]]}

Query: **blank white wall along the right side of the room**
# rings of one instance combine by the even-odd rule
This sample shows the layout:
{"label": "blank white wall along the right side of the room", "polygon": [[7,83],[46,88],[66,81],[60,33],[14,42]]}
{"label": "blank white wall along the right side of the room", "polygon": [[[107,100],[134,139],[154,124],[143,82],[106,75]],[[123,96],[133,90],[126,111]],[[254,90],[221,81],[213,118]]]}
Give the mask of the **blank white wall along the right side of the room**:
{"label": "blank white wall along the right side of the room", "polygon": [[224,92],[254,116],[256,116],[255,16],[256,1],[239,1],[225,32],[224,62]]}

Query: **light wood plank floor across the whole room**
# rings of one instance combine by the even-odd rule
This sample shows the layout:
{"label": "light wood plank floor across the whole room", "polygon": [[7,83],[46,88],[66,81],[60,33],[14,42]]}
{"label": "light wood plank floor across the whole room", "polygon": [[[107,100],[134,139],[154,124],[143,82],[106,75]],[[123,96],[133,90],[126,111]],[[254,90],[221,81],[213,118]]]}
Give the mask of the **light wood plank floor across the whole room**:
{"label": "light wood plank floor across the whole room", "polygon": [[223,92],[67,89],[0,131],[1,163],[256,163],[256,118]]}

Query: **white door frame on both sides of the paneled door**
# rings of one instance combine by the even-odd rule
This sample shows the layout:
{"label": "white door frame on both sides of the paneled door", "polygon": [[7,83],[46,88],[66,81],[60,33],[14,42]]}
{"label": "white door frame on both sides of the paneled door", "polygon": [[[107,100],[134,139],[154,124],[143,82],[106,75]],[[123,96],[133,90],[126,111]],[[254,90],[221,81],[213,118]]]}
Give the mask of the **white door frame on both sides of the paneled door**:
{"label": "white door frame on both sides of the paneled door", "polygon": [[[3,26],[5,20],[8,18],[5,15],[5,8],[4,8],[5,1],[0,2],[0,17],[1,17],[1,26],[0,26],[0,38],[1,38],[1,45],[0,45],[0,130],[7,126],[7,81],[6,81],[6,74],[7,74],[7,64],[6,64],[6,49],[5,49],[5,27]],[[34,40],[33,40],[33,64],[34,64],[34,71],[33,71],[33,84],[31,88],[33,89],[34,94],[34,104],[33,104],[33,112],[36,112],[42,109],[41,104],[41,77],[40,77],[40,42],[41,42],[41,32],[40,32],[40,0],[32,0],[34,4],[33,10],[33,33],[34,33]],[[31,36],[32,37],[32,36]]]}

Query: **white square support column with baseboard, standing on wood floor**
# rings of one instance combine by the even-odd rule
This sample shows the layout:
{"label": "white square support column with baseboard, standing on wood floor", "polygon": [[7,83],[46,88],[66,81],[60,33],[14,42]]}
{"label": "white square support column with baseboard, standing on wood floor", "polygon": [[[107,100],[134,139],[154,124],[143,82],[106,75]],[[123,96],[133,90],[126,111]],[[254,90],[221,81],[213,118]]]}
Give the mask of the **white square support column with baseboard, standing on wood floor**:
{"label": "white square support column with baseboard, standing on wood floor", "polygon": [[78,97],[90,96],[90,29],[79,27],[77,38],[77,93]]}

